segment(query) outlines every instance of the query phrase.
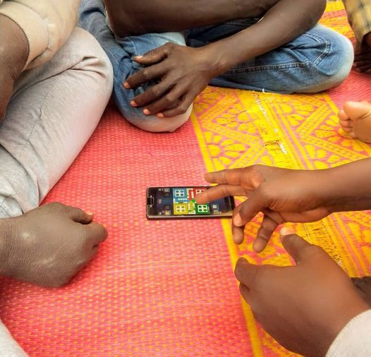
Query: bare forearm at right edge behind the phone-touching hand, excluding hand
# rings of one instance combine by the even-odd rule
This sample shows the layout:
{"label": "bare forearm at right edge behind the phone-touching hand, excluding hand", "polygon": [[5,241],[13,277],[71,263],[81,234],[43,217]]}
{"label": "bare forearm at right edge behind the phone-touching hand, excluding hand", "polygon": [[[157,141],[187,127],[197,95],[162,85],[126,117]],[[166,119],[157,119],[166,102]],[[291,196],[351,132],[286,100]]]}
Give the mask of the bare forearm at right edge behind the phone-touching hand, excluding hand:
{"label": "bare forearm at right edge behind the phone-touching hand, excluding hand", "polygon": [[331,212],[371,210],[371,158],[322,170],[318,189]]}

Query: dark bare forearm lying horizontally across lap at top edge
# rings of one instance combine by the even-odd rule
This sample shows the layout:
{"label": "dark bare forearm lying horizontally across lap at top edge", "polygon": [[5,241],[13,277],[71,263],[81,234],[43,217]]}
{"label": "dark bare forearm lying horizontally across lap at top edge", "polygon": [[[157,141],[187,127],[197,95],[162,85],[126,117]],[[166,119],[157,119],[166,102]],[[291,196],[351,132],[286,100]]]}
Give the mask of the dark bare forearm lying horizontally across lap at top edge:
{"label": "dark bare forearm lying horizontally across lap at top edge", "polygon": [[237,18],[258,18],[279,0],[105,0],[118,36],[181,31]]}

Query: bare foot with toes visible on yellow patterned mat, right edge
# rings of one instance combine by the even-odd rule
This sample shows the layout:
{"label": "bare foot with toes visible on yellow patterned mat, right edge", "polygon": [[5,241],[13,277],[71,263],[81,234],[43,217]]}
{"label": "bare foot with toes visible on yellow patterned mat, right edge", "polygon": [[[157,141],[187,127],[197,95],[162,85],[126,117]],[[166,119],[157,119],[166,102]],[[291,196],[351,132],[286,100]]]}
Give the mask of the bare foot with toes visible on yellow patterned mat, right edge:
{"label": "bare foot with toes visible on yellow patterned mat, right edge", "polygon": [[371,143],[371,103],[346,102],[339,111],[339,124],[352,138]]}

